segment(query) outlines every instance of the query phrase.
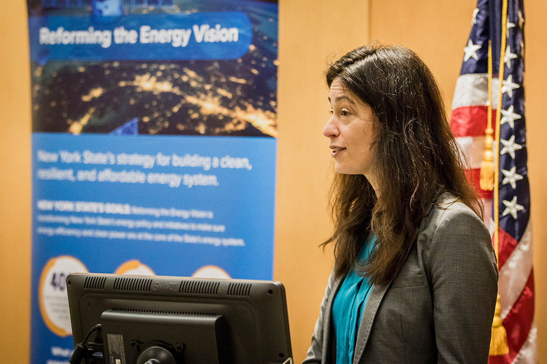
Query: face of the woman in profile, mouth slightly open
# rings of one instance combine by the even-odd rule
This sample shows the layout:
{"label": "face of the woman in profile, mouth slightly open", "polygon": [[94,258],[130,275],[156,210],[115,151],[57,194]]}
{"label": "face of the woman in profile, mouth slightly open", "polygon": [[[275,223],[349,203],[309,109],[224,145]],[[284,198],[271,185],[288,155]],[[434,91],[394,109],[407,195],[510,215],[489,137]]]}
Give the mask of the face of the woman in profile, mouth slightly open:
{"label": "face of the woman in profile, mouth slightly open", "polygon": [[323,135],[330,139],[334,169],[340,174],[365,175],[374,187],[373,110],[346,91],[339,79],[330,85],[329,101],[332,116],[323,128]]}

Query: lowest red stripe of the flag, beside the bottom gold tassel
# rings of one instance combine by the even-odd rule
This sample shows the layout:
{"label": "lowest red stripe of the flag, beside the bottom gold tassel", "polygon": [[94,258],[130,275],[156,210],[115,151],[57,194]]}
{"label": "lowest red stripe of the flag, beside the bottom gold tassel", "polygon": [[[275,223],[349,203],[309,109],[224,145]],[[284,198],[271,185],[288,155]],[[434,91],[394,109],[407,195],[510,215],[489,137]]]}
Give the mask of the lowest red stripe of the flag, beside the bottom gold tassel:
{"label": "lowest red stripe of the flag, beside the bottom gold tassel", "polygon": [[488,364],[507,364],[513,362],[522,345],[526,342],[534,320],[534,272],[530,272],[528,281],[519,299],[511,307],[503,320],[507,331],[509,354],[489,356]]}

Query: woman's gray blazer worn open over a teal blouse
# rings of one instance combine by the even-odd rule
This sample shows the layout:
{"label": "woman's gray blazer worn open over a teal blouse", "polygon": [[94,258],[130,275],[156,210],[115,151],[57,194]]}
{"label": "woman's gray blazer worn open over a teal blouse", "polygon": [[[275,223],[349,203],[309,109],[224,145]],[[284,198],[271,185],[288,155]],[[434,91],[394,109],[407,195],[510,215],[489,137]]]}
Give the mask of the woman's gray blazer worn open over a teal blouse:
{"label": "woman's gray blazer worn open over a teal blouse", "polygon": [[[335,361],[331,312],[342,279],[329,277],[302,364]],[[398,275],[373,285],[353,364],[487,363],[498,271],[490,234],[450,194],[421,220]]]}

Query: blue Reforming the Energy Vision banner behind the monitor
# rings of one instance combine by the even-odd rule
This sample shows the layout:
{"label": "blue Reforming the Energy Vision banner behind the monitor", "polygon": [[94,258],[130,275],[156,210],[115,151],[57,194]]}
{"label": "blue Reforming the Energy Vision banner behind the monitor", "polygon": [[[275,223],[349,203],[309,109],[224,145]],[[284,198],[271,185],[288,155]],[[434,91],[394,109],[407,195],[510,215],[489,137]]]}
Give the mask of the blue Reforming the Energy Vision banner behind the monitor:
{"label": "blue Reforming the Energy Vision banner behind the monitor", "polygon": [[27,0],[31,362],[72,272],[272,279],[277,3]]}

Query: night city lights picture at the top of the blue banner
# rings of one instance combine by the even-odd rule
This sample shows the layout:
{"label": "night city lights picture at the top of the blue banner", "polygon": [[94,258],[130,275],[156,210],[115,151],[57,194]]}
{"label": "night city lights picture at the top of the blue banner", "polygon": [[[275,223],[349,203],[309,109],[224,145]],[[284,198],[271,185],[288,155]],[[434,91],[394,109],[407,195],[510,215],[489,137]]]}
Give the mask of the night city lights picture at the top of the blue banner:
{"label": "night city lights picture at the top of the blue banner", "polygon": [[[33,60],[33,132],[107,134],[136,118],[141,135],[277,136],[277,4],[159,2],[126,0],[123,11],[238,11],[252,26],[248,51],[236,59]],[[89,0],[69,3],[29,1],[30,15],[89,14]]]}

